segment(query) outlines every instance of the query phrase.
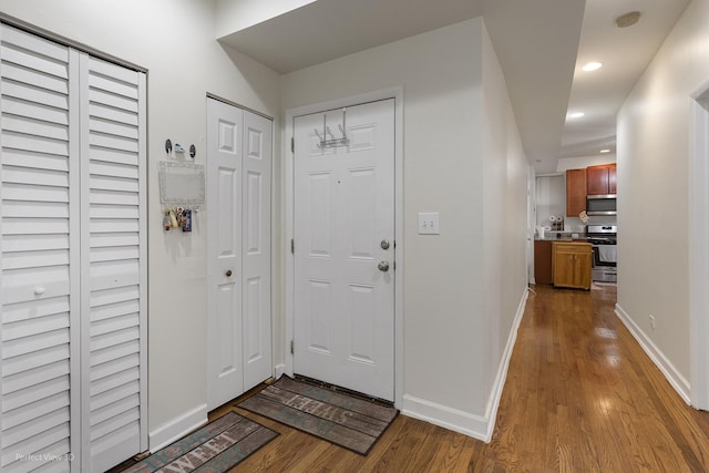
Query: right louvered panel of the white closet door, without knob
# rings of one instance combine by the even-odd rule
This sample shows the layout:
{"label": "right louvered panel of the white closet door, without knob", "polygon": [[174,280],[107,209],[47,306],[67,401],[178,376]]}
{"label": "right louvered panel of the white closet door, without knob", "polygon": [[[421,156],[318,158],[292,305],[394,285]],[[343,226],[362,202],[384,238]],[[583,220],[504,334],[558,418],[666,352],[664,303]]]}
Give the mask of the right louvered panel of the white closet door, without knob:
{"label": "right louvered panel of the white closet door, without knob", "polygon": [[80,56],[82,464],[147,449],[145,75]]}

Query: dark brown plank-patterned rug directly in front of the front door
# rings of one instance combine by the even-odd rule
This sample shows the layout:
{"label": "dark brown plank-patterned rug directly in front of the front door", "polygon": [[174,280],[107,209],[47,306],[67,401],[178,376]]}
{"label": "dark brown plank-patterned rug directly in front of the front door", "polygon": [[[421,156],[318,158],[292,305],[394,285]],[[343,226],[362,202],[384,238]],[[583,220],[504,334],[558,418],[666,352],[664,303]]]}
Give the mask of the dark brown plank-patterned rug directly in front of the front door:
{"label": "dark brown plank-patterned rug directly in front of the front door", "polygon": [[282,377],[238,404],[366,455],[399,411]]}

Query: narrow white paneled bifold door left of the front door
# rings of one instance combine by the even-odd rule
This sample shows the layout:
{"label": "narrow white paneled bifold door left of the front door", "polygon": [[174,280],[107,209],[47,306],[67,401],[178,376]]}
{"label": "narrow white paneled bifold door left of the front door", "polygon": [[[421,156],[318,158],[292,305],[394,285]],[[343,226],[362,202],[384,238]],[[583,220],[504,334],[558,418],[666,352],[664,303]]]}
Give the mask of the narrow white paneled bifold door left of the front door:
{"label": "narrow white paneled bifold door left of the front door", "polygon": [[214,409],[271,376],[271,122],[214,99],[207,122],[207,407]]}

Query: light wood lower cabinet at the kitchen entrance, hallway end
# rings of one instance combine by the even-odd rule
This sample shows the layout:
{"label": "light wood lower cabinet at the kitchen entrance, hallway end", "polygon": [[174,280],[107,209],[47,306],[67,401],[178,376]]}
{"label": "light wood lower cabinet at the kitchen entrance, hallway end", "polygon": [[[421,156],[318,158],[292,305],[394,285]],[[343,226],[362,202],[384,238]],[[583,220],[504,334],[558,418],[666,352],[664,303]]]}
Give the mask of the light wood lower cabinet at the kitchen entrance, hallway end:
{"label": "light wood lower cabinet at the kitchen entrance, hallway end", "polygon": [[553,241],[554,286],[590,289],[590,261],[589,243]]}

